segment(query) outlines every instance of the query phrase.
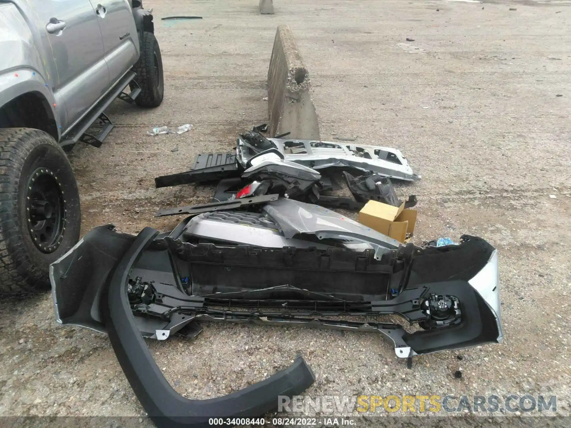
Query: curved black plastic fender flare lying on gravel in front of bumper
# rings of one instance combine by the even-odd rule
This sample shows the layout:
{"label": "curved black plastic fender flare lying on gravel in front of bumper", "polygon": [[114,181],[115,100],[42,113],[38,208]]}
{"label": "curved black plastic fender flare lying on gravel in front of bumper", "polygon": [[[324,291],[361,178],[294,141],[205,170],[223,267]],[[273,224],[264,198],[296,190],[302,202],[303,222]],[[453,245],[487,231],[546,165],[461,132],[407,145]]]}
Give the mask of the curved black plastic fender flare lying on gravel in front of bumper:
{"label": "curved black plastic fender flare lying on gravel in front of bumper", "polygon": [[150,227],[136,237],[108,282],[104,320],[111,345],[135,395],[158,427],[203,427],[208,419],[259,417],[278,407],[278,395],[299,395],[312,385],[315,376],[303,358],[262,382],[223,397],[191,400],[182,397],[164,378],[135,325],[126,283],[132,265],[143,249],[158,235]]}

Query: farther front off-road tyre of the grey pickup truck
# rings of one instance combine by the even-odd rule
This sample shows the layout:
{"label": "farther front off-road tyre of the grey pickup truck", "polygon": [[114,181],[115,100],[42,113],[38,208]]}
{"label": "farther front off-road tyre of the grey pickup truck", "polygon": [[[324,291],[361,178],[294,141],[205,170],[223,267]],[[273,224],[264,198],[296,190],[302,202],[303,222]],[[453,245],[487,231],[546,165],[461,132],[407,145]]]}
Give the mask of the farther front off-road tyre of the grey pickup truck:
{"label": "farther front off-road tyre of the grey pickup truck", "polygon": [[[156,41],[155,35],[148,31],[143,32],[139,60],[133,71],[137,74],[135,82],[141,88],[135,103],[140,107],[160,106],[164,96],[163,60],[160,56],[159,42]],[[130,84],[130,87],[132,90],[135,85]]]}

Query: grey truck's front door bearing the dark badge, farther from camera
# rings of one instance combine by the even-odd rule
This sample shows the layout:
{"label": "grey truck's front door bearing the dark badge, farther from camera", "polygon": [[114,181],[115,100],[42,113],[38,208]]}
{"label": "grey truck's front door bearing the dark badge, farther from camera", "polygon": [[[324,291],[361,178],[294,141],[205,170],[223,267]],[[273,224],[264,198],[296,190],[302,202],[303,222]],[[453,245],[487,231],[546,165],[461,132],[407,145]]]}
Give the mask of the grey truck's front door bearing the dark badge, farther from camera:
{"label": "grey truck's front door bearing the dark badge, farther from camera", "polygon": [[139,59],[139,38],[130,0],[91,0],[101,34],[111,83]]}

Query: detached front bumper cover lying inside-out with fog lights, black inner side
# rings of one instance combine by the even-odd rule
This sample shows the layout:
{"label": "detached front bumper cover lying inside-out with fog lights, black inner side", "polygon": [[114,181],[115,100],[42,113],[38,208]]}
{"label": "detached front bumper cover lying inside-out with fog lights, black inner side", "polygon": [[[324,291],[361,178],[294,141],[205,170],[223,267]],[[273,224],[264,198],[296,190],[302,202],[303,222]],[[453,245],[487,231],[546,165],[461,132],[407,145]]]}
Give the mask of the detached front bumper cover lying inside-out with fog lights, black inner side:
{"label": "detached front bumper cover lying inside-out with fog lights, black inner side", "polygon": [[[403,358],[502,339],[497,251],[477,237],[379,257],[373,249],[191,243],[177,233],[95,228],[51,266],[58,321],[109,333],[126,373],[127,336],[160,340],[198,320],[375,331]],[[323,318],[389,314],[423,330]],[[132,346],[140,353],[143,345]]]}

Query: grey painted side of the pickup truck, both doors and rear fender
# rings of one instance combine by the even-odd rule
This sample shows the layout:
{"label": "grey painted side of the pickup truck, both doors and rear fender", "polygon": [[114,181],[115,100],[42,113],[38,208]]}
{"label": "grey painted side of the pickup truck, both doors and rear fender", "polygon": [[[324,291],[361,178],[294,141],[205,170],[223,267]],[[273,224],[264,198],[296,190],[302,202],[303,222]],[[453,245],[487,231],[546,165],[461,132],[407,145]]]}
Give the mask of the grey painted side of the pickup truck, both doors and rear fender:
{"label": "grey painted side of the pickup truck, both doors and rear fender", "polygon": [[0,107],[36,92],[62,136],[139,58],[130,3],[0,0],[0,58]]}

